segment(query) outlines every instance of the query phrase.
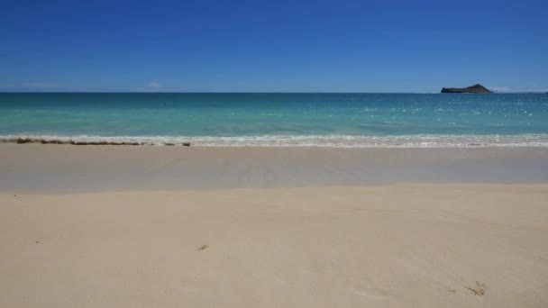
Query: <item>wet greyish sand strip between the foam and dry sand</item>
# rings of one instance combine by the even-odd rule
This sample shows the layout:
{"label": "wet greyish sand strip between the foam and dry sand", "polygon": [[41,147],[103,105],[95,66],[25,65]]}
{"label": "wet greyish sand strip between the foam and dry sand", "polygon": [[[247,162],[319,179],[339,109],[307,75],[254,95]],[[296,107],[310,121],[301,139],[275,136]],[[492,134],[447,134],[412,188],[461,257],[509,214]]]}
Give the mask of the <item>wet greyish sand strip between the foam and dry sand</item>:
{"label": "wet greyish sand strip between the foam and dry sand", "polygon": [[540,148],[346,149],[0,144],[0,192],[397,183],[548,183]]}

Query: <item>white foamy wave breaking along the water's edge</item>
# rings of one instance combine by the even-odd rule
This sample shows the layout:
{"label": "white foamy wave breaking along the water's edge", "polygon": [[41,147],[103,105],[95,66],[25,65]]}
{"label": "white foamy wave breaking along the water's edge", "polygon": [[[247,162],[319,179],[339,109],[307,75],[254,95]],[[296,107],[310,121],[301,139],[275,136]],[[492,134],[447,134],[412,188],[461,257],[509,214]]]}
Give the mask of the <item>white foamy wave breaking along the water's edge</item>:
{"label": "white foamy wave breaking along the water's edge", "polygon": [[548,134],[522,135],[406,135],[406,136],[40,136],[0,135],[1,142],[27,140],[43,143],[112,143],[134,145],[182,145],[201,147],[333,147],[333,148],[477,148],[535,147],[548,148]]}

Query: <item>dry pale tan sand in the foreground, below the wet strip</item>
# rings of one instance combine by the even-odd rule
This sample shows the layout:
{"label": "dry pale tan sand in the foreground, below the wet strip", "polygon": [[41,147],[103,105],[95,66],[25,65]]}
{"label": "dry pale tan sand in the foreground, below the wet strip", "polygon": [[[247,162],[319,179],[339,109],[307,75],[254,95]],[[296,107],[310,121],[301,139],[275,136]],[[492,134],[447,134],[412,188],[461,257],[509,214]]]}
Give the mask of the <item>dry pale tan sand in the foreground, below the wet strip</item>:
{"label": "dry pale tan sand in the foreground, below the wet strip", "polygon": [[0,194],[2,307],[546,307],[548,185]]}

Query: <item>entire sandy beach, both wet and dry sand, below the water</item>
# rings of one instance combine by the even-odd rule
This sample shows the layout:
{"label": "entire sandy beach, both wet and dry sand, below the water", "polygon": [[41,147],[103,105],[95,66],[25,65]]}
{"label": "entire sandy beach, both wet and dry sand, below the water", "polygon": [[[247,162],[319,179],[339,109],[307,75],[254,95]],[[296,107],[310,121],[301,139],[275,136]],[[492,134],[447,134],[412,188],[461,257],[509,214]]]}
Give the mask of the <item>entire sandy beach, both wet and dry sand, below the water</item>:
{"label": "entire sandy beach, both wet and dry sand, below the water", "polygon": [[543,307],[547,156],[0,144],[0,305]]}

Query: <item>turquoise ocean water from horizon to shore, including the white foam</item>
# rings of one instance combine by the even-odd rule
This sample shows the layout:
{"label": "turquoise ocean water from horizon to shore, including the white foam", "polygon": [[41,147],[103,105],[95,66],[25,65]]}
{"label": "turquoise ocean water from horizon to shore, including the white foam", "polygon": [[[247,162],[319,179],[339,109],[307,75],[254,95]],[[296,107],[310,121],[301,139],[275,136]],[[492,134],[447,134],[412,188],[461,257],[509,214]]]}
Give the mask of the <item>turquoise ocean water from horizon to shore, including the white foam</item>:
{"label": "turquoise ocean water from horizon to shore, including the white foam", "polygon": [[0,94],[0,140],[548,147],[542,94]]}

